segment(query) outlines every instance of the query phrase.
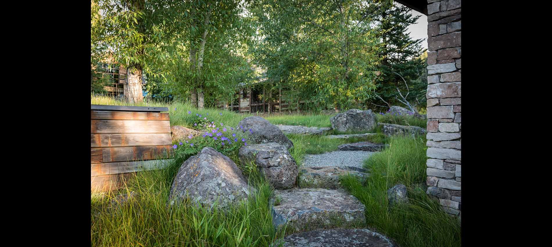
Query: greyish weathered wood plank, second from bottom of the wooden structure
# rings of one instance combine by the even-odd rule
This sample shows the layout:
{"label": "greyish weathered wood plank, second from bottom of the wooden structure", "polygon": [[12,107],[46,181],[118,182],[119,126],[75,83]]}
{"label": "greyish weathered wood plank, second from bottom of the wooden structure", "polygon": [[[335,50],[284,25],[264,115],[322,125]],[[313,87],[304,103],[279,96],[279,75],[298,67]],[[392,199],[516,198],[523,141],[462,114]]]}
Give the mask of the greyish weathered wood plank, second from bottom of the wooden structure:
{"label": "greyish weathered wood plank, second from bottom of the wooden structure", "polygon": [[171,161],[172,159],[91,164],[90,176],[114,175],[127,172],[162,169]]}

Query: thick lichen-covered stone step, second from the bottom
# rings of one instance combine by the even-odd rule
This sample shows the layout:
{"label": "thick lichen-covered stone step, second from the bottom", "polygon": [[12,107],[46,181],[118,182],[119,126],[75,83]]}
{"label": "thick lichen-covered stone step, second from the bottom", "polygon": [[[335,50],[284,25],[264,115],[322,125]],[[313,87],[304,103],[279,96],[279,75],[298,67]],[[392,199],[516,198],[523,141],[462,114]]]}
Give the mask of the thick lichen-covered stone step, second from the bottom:
{"label": "thick lichen-covered stone step, second from the bottom", "polygon": [[272,222],[278,230],[287,225],[286,233],[366,223],[364,204],[343,190],[295,188],[275,190],[274,194],[270,200]]}

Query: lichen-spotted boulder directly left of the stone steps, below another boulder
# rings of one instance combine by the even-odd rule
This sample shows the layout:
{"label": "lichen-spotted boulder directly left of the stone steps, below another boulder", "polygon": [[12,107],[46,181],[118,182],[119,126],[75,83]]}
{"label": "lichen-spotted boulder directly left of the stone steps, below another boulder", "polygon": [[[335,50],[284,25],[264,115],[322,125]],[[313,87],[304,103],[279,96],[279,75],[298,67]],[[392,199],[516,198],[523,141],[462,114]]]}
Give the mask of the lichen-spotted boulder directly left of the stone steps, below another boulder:
{"label": "lichen-spotted boulder directly left of the stone steps, below another boulder", "polygon": [[241,161],[253,161],[274,188],[291,188],[299,171],[286,146],[262,143],[242,146],[238,151]]}

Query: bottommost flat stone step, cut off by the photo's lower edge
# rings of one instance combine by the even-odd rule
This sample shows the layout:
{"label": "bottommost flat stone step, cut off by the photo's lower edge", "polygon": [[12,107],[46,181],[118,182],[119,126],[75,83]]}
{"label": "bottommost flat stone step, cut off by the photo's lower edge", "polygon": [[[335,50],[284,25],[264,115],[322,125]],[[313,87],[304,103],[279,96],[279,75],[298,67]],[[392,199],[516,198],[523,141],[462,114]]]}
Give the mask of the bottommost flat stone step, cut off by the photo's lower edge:
{"label": "bottommost flat stone step, cut off by the photo's lower edge", "polygon": [[283,240],[285,247],[395,247],[392,241],[369,229],[313,230],[288,235]]}

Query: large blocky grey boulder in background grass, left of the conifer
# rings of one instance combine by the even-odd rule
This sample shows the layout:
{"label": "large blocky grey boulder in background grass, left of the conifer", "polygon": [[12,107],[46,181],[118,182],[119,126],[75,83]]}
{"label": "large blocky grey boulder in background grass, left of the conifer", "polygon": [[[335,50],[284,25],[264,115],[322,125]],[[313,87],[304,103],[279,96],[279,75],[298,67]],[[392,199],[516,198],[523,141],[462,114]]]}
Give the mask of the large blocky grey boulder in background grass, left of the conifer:
{"label": "large blocky grey boulder in background grass, left of the conifer", "polygon": [[350,109],[347,112],[339,113],[330,118],[332,128],[340,132],[365,131],[368,132],[376,124],[376,115],[372,110],[360,111]]}

